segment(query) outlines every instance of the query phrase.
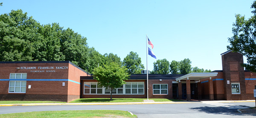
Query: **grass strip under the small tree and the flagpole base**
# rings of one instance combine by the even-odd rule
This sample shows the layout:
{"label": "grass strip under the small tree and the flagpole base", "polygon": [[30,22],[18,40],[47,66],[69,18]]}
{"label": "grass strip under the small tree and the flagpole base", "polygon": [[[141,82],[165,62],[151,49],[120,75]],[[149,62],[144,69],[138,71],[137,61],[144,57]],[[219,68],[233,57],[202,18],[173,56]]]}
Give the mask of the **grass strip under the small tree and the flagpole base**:
{"label": "grass strip under the small tree and the flagpole base", "polygon": [[[143,102],[146,98],[81,98],[70,103],[95,103],[95,102]],[[180,101],[176,99],[150,99],[154,101]]]}

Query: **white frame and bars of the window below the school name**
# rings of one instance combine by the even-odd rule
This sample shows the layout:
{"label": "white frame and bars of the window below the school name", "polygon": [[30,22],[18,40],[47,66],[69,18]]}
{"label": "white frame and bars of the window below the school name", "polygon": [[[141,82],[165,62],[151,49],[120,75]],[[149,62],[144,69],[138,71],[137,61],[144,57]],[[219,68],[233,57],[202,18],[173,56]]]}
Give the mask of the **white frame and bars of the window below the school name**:
{"label": "white frame and bars of the window below the school name", "polygon": [[[15,74],[15,78],[11,78],[11,75]],[[17,78],[17,74],[20,74],[20,78]],[[22,75],[26,74],[26,78],[22,78]],[[9,81],[9,88],[8,88],[8,93],[26,93],[26,85],[22,86],[22,82],[26,82],[24,80],[17,80],[17,79],[27,79],[27,73],[10,73],[10,77],[9,77],[10,81]],[[13,79],[13,80],[12,80]],[[14,86],[11,86],[11,82],[14,82]],[[17,86],[17,82],[20,82],[20,86]],[[13,87],[14,88],[14,92],[10,92],[10,88]],[[16,88],[19,87],[20,88],[20,92],[15,92]],[[25,92],[21,92],[21,89],[25,88]]]}

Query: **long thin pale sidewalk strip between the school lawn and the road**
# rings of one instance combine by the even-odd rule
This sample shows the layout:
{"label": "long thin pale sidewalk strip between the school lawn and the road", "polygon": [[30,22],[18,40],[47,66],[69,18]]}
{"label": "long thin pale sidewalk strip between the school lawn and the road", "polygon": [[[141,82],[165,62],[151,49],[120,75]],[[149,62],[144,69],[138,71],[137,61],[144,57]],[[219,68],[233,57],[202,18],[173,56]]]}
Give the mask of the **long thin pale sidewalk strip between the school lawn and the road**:
{"label": "long thin pale sidewalk strip between the school lawn and the road", "polygon": [[36,105],[111,105],[111,104],[182,104],[182,103],[225,103],[225,102],[255,102],[246,101],[162,101],[162,102],[118,102],[118,103],[31,103],[31,104],[0,104],[0,107],[9,106],[36,106]]}

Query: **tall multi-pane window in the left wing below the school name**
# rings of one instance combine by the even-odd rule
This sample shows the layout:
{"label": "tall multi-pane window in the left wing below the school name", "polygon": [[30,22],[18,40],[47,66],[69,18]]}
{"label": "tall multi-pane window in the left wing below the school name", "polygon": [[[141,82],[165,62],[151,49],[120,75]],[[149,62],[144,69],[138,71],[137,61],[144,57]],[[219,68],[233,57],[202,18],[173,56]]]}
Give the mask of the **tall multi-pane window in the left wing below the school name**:
{"label": "tall multi-pane window in the left wing below the school name", "polygon": [[9,93],[26,93],[26,81],[17,81],[17,79],[26,79],[26,73],[11,73],[9,81]]}

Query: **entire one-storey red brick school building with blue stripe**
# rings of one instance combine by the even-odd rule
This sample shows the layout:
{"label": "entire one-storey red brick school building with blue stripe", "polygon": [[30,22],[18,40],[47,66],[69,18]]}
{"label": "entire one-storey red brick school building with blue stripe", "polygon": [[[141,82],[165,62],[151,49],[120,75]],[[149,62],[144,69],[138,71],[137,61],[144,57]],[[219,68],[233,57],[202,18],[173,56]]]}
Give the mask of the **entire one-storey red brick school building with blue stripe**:
{"label": "entire one-storey red brick school building with blue stripe", "polygon": [[[113,98],[253,100],[256,73],[241,67],[241,53],[221,54],[223,70],[189,74],[132,74]],[[210,67],[209,67],[210,68]],[[147,87],[148,85],[148,87]],[[70,61],[0,62],[0,100],[73,101],[110,98],[110,90]]]}

